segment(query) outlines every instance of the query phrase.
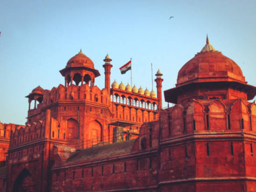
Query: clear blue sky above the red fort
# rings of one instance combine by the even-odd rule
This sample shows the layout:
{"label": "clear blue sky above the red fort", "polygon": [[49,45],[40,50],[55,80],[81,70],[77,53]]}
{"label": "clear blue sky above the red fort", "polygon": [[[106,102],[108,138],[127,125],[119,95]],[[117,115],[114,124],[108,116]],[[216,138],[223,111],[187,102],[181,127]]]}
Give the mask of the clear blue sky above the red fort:
{"label": "clear blue sky above the red fort", "polygon": [[25,96],[38,85],[51,90],[64,84],[59,70],[80,48],[101,74],[99,88],[108,53],[111,83],[130,82],[130,73],[121,75],[119,67],[132,58],[137,87],[151,90],[153,63],[166,90],[208,34],[210,44],[256,86],[255,10],[255,0],[0,0],[0,121],[24,124]]}

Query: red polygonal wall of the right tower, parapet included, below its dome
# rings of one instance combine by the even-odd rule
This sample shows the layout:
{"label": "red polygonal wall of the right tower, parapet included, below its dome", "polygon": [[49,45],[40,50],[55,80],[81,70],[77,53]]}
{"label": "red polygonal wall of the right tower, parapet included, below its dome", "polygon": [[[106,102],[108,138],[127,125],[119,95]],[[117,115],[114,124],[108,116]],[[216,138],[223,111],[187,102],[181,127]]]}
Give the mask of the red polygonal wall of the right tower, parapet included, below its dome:
{"label": "red polygonal wall of the right tower, parapet included, below its dome", "polygon": [[199,191],[243,191],[248,182],[255,190],[246,181],[256,176],[254,114],[255,104],[241,99],[193,100],[164,110],[160,184],[193,181]]}

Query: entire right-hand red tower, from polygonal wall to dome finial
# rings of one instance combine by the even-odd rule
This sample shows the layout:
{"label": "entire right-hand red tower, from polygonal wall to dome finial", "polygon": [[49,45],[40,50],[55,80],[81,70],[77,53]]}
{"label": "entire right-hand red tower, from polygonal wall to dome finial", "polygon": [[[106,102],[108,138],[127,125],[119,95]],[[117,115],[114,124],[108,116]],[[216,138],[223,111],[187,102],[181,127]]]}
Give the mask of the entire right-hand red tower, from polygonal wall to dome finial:
{"label": "entire right-hand red tower, from polygonal wall to dome finial", "polygon": [[178,72],[176,87],[164,91],[165,101],[177,105],[160,118],[168,144],[160,149],[159,180],[172,184],[160,190],[256,191],[256,180],[248,179],[256,178],[256,104],[248,101],[255,95],[238,64],[207,37]]}

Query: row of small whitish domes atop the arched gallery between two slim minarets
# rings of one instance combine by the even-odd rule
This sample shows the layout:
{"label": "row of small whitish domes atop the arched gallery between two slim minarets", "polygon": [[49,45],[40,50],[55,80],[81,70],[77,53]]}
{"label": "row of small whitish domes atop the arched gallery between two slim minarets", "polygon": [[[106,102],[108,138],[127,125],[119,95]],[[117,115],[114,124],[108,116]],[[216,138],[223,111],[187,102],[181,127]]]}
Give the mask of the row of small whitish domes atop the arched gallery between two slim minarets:
{"label": "row of small whitish domes atop the arched gallery between two slim minarets", "polygon": [[134,93],[138,93],[141,95],[146,95],[146,96],[150,96],[150,97],[156,97],[156,93],[152,90],[151,92],[146,88],[146,90],[142,89],[141,87],[138,89],[135,84],[132,88],[132,86],[129,85],[129,83],[125,86],[122,82],[120,84],[118,84],[116,82],[116,80],[112,83],[111,85],[112,88],[116,88],[116,89],[121,89],[121,90],[126,90],[126,91],[131,91]]}

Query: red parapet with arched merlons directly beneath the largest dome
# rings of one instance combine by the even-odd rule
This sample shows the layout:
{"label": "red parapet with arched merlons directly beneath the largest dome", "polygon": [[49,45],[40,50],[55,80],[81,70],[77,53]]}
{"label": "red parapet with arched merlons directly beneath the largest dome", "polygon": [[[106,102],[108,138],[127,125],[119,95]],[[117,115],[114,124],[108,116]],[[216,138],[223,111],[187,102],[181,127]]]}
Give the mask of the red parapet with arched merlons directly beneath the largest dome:
{"label": "red parapet with arched merlons directly beneath the largest dome", "polygon": [[192,100],[164,110],[162,139],[196,132],[256,132],[256,104],[237,100]]}

